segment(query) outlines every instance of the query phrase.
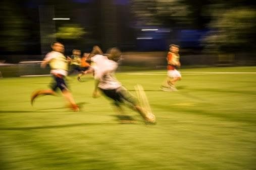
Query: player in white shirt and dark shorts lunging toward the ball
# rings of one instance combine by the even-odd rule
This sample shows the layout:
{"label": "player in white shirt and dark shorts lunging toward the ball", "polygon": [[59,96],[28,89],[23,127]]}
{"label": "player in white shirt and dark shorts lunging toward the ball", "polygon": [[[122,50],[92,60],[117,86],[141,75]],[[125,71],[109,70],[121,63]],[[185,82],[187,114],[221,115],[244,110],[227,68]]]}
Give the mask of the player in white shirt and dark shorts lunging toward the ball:
{"label": "player in white shirt and dark shorts lunging toward the ball", "polygon": [[118,67],[117,61],[121,57],[121,52],[117,48],[109,50],[109,56],[102,55],[102,51],[98,46],[94,46],[90,54],[92,69],[94,70],[95,88],[93,97],[98,97],[100,90],[105,96],[114,100],[115,106],[119,109],[120,104],[127,102],[133,109],[135,109],[146,122],[155,123],[155,115],[146,113],[146,110],[139,106],[138,99],[134,97],[127,89],[125,89],[121,82],[119,82],[114,72]]}

